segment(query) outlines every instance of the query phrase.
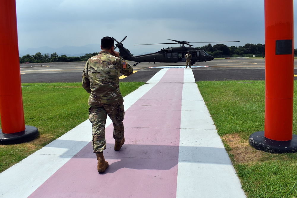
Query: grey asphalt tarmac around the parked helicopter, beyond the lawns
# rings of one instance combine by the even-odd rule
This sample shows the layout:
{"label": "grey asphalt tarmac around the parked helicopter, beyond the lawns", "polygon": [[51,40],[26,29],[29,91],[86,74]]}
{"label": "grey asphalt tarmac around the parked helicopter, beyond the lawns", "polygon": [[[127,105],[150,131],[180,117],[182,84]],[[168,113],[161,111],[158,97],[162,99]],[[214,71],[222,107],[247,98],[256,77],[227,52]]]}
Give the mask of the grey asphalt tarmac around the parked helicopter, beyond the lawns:
{"label": "grey asphalt tarmac around the parked helicopter, beyond the lawns", "polygon": [[[135,62],[128,62],[131,66]],[[294,62],[297,65],[297,62]],[[81,82],[85,62],[20,64],[22,83]],[[185,63],[139,63],[135,73],[120,78],[120,82],[147,82],[160,69],[185,67]],[[189,69],[189,67],[188,67]],[[280,68],[281,69],[281,68]],[[215,59],[192,66],[195,81],[205,80],[265,80],[265,60],[252,58]],[[297,70],[294,69],[294,74]],[[296,77],[295,77],[296,78]]]}

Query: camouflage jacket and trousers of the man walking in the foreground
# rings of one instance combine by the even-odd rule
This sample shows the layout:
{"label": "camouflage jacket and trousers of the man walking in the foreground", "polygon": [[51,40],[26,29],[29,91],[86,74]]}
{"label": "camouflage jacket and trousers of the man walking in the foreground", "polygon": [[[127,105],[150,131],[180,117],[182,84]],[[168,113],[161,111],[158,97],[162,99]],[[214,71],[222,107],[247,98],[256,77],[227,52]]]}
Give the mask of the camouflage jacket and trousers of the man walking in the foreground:
{"label": "camouflage jacket and trousers of the man walking in the foreground", "polygon": [[83,69],[82,86],[90,93],[89,119],[92,123],[92,145],[94,153],[106,149],[105,124],[107,115],[113,122],[113,138],[124,137],[124,99],[119,89],[119,76],[129,76],[132,67],[121,57],[101,51],[89,58]]}

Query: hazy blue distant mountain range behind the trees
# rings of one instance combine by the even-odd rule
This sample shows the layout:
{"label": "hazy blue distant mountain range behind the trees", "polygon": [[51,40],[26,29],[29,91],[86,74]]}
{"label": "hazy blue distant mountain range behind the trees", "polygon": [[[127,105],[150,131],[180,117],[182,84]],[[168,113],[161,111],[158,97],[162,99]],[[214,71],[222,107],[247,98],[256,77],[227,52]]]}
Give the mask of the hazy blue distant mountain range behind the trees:
{"label": "hazy blue distant mountain range behind the trees", "polygon": [[[129,49],[130,50],[130,49]],[[139,53],[141,50],[141,53]],[[67,46],[65,45],[64,47],[60,48],[51,48],[51,47],[38,47],[38,48],[28,48],[26,50],[19,50],[19,56],[25,56],[27,54],[34,55],[38,52],[42,54],[48,53],[49,55],[52,53],[57,53],[59,56],[65,54],[68,57],[71,56],[83,56],[87,53],[93,53],[93,52],[99,52],[101,51],[100,44],[88,44],[80,47],[76,46]],[[141,48],[139,50],[130,50],[130,52],[134,55],[141,55],[141,54],[147,54],[151,52],[157,52],[156,48]]]}

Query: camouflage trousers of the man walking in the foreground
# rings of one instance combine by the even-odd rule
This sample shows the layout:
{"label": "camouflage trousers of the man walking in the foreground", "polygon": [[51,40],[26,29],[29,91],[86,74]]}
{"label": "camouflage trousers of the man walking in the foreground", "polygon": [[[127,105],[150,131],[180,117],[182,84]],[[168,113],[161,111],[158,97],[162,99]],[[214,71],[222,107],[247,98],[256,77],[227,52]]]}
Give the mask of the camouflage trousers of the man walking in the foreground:
{"label": "camouflage trousers of the man walking in the foreground", "polygon": [[89,120],[92,123],[92,146],[94,153],[106,149],[105,124],[107,115],[113,122],[113,138],[121,141],[124,137],[124,105],[105,104],[102,107],[89,108]]}

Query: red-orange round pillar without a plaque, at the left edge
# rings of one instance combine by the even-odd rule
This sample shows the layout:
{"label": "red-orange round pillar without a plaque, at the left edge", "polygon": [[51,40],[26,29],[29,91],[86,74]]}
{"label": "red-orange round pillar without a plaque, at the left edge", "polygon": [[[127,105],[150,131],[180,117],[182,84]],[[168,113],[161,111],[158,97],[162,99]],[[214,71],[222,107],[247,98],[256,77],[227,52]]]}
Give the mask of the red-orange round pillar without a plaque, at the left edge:
{"label": "red-orange round pillar without a plaque, at the left edge", "polygon": [[15,0],[0,1],[0,115],[3,133],[25,130]]}

